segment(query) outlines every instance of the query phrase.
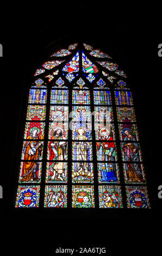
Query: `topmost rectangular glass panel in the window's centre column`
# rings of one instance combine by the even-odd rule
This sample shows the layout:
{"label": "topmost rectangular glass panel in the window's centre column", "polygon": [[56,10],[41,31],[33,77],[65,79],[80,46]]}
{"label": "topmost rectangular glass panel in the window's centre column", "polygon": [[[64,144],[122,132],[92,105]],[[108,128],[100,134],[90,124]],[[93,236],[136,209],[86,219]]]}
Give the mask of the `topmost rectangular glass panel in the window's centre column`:
{"label": "topmost rectangular glass panel in the window's centre column", "polygon": [[73,90],[72,91],[73,104],[90,104],[89,90]]}

